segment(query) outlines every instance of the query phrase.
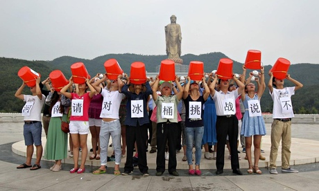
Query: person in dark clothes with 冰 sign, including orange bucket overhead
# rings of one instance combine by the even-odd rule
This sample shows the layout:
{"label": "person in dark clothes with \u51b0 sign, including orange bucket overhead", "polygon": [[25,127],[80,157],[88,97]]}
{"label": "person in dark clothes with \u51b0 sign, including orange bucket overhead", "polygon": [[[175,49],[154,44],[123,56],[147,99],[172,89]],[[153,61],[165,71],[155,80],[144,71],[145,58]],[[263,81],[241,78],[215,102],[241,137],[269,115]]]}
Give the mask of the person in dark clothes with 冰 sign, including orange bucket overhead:
{"label": "person in dark clothes with \u51b0 sign, including orange bucket overhead", "polygon": [[[128,91],[130,90],[130,91]],[[130,78],[128,84],[124,85],[122,93],[128,98],[126,104],[126,145],[127,156],[122,175],[132,174],[134,167],[132,163],[132,155],[135,141],[137,150],[139,151],[138,165],[139,171],[143,176],[149,176],[147,158],[146,158],[146,142],[148,139],[148,112],[147,100],[152,93],[150,84],[146,82],[146,70],[143,62],[133,62],[130,69]]]}

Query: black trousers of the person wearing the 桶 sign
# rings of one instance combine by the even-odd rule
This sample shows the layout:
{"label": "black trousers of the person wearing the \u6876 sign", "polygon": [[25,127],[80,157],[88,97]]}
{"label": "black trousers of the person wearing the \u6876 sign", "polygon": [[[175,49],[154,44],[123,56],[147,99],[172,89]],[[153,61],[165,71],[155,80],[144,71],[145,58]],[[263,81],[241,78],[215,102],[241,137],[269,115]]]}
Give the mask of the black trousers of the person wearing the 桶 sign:
{"label": "black trousers of the person wearing the \u6876 sign", "polygon": [[169,145],[169,173],[176,171],[176,139],[178,138],[178,123],[177,122],[160,122],[157,123],[157,156],[156,156],[156,171],[165,171],[165,147],[168,141]]}

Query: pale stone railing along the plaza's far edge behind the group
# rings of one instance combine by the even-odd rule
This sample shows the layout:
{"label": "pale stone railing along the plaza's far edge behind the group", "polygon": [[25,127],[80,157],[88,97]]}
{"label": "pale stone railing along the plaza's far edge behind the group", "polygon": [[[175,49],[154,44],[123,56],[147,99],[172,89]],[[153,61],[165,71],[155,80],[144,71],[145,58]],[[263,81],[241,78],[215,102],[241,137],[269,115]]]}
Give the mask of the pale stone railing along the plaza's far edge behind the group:
{"label": "pale stone railing along the plaza's far edge behind the group", "polygon": [[[264,114],[264,120],[266,123],[273,122],[272,114]],[[298,124],[319,124],[319,114],[295,114],[295,118],[291,120],[293,123]],[[0,123],[3,122],[23,122],[24,117],[21,113],[0,113]]]}

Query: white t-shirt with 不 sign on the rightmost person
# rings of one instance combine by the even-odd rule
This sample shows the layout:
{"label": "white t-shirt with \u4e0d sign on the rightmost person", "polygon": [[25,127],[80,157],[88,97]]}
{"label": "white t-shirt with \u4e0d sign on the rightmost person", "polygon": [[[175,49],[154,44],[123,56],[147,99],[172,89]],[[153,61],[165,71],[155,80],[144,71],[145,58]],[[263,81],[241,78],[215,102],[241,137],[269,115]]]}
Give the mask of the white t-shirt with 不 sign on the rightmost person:
{"label": "white t-shirt with \u4e0d sign on the rightmost person", "polygon": [[[291,96],[295,95],[295,87],[285,87],[284,89],[273,88],[273,93],[269,92],[273,98],[273,118],[293,118],[293,103]],[[283,112],[285,110],[285,112]],[[287,111],[289,111],[287,113]]]}

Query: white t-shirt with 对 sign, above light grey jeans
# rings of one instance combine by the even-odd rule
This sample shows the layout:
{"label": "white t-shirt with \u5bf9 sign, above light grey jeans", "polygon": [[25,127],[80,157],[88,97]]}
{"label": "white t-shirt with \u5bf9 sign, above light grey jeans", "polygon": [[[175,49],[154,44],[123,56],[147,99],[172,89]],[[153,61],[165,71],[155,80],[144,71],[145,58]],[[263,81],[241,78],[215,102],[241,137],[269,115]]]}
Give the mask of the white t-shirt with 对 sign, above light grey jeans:
{"label": "white t-shirt with \u5bf9 sign, above light grey jeans", "polygon": [[103,96],[103,102],[100,118],[119,119],[119,107],[125,95],[119,93],[119,91],[108,91],[106,89],[102,89],[101,95]]}

